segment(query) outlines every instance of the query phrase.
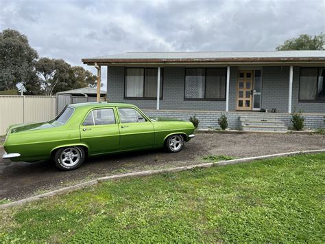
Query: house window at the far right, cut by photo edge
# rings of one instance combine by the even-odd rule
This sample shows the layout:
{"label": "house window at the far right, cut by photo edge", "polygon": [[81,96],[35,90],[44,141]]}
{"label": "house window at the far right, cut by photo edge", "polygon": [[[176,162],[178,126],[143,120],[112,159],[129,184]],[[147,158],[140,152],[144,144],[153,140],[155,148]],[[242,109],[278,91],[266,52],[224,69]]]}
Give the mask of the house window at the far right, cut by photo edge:
{"label": "house window at the far right, cut by photo edge", "polygon": [[325,68],[301,68],[299,100],[325,102]]}

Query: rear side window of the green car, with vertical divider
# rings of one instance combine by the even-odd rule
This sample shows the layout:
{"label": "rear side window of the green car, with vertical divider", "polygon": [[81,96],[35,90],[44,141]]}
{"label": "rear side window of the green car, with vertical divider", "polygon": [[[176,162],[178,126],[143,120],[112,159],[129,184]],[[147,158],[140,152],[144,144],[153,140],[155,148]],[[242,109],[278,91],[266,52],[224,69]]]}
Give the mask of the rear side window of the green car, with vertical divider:
{"label": "rear side window of the green car, with vertical divider", "polygon": [[82,125],[115,124],[113,109],[95,109],[88,113]]}

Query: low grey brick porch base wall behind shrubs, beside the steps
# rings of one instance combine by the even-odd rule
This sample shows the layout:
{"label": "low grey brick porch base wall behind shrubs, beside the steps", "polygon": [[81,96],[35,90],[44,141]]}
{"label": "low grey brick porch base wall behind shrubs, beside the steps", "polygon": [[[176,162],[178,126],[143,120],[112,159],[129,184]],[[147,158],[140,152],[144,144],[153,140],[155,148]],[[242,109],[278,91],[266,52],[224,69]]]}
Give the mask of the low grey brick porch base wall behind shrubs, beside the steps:
{"label": "low grey brick porch base wall behind shrubs, beside the steps", "polygon": [[[177,118],[179,120],[189,120],[194,115],[200,120],[199,128],[219,128],[218,118],[220,118],[221,111],[156,111],[144,110],[150,118]],[[260,113],[261,116],[269,116],[276,120],[285,122],[285,126],[291,127],[291,115],[289,113]],[[240,129],[240,116],[256,115],[254,112],[228,112],[228,126],[231,129]],[[305,129],[325,129],[325,115],[322,114],[304,114]]]}

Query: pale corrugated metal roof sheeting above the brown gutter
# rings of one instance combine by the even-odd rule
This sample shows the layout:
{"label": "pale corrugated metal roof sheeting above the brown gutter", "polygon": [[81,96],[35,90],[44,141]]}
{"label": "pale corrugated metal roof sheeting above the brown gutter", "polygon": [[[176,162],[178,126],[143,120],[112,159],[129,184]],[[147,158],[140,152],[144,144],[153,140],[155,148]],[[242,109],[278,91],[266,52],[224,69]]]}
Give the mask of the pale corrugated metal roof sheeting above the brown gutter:
{"label": "pale corrugated metal roof sheeting above the brown gutter", "polygon": [[[254,52],[127,52],[96,57],[98,59],[183,59],[183,58],[325,58],[325,51]],[[95,59],[95,58],[94,58]]]}

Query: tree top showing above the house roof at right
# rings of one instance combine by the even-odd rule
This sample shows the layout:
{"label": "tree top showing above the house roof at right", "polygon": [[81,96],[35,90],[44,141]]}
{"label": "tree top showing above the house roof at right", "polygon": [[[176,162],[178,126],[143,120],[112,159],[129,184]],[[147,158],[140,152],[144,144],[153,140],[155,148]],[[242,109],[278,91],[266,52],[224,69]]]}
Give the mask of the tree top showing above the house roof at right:
{"label": "tree top showing above the house roof at right", "polygon": [[325,49],[325,34],[321,33],[318,36],[301,34],[297,38],[291,38],[282,45],[278,45],[276,50],[324,50]]}

